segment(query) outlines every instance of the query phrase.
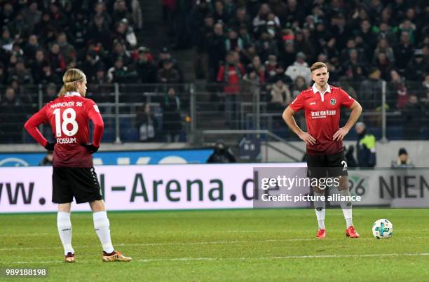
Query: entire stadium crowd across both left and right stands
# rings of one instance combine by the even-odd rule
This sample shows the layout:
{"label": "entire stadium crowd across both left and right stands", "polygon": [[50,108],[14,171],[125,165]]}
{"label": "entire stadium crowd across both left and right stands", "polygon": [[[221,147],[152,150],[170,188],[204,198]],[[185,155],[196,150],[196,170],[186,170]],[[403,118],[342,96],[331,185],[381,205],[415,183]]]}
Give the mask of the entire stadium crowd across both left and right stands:
{"label": "entire stadium crowd across both left and right stands", "polygon": [[[402,111],[406,122],[429,117],[427,1],[162,3],[175,47],[196,48],[197,78],[226,85],[226,108],[241,91],[236,84],[251,81],[261,85],[268,110],[280,111],[311,85],[308,64],[320,61],[365,111],[381,108],[387,81],[386,106]],[[48,101],[71,67],[82,69],[95,90],[106,83],[183,83],[168,48],[160,46],[155,59],[139,45],[135,31],[142,27],[137,0],[0,1],[0,130],[15,126],[8,114],[14,106],[36,102],[23,85],[43,85]]]}

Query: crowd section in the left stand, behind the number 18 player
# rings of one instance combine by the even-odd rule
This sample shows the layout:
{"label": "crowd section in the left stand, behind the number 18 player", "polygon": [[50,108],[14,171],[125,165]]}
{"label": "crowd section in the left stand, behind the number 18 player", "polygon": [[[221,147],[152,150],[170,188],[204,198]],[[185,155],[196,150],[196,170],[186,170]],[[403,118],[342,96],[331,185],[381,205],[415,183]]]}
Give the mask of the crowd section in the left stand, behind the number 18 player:
{"label": "crowd section in the left stand, behind the number 18 player", "polygon": [[155,62],[139,45],[142,27],[138,0],[0,1],[0,141],[22,141],[17,125],[36,111],[37,85],[43,103],[55,99],[69,68],[86,73],[89,95],[111,83],[182,83],[168,48]]}

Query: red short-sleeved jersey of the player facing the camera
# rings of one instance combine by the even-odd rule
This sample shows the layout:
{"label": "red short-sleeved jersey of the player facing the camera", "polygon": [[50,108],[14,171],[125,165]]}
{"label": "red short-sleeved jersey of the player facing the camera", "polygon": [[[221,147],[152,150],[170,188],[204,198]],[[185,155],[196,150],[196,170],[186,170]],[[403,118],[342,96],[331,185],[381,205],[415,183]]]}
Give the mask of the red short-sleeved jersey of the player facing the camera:
{"label": "red short-sleeved jersey of the player facing the camera", "polygon": [[301,92],[290,104],[296,113],[304,108],[308,134],[316,139],[314,145],[307,145],[308,155],[331,155],[343,150],[342,141],[332,136],[339,129],[340,107],[350,108],[355,99],[340,87],[327,85],[324,94],[313,85]]}

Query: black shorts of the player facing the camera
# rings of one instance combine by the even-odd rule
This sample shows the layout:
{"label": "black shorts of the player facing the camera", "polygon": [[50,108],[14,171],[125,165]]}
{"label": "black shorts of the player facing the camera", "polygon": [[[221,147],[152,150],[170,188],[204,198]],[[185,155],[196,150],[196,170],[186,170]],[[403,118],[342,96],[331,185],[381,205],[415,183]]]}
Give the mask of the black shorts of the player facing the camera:
{"label": "black shorts of the player facing the camera", "polygon": [[347,162],[344,151],[332,155],[306,155],[307,176],[324,178],[347,176]]}

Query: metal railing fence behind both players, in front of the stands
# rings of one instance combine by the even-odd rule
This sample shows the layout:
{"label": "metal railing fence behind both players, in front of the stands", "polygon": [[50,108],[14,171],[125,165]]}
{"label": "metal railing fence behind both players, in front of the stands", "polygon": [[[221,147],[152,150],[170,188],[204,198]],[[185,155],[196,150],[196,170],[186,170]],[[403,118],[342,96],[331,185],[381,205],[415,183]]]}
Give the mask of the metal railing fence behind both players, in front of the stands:
{"label": "metal railing fence behind both players, in front of the stands", "polygon": [[[429,92],[421,82],[332,83],[341,86],[362,104],[361,120],[381,141],[426,139]],[[305,86],[305,85],[304,85]],[[301,87],[304,87],[301,86]],[[203,130],[268,130],[287,141],[297,140],[282,121],[282,111],[301,88],[290,85],[285,103],[273,101],[273,84],[246,81],[219,83],[88,85],[87,97],[99,106],[105,122],[104,142],[182,141],[202,143]],[[0,87],[0,143],[28,143],[25,120],[55,99],[59,85]],[[175,94],[168,94],[168,92]],[[383,105],[383,106],[382,106]],[[341,112],[341,124],[348,118]],[[305,129],[304,113],[297,123]],[[41,128],[51,136],[50,128]],[[355,138],[354,131],[348,134]]]}

